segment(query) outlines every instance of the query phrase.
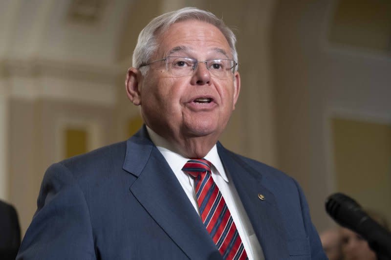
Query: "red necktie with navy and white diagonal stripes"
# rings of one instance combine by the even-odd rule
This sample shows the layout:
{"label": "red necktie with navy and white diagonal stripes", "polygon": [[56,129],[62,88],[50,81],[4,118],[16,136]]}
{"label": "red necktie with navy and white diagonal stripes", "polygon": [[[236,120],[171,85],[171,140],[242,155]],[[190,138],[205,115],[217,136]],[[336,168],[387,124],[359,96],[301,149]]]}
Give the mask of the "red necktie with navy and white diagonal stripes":
{"label": "red necktie with navy and white diagonal stripes", "polygon": [[202,222],[225,260],[247,259],[238,230],[220,190],[211,176],[212,163],[189,160],[182,170],[195,178],[195,195]]}

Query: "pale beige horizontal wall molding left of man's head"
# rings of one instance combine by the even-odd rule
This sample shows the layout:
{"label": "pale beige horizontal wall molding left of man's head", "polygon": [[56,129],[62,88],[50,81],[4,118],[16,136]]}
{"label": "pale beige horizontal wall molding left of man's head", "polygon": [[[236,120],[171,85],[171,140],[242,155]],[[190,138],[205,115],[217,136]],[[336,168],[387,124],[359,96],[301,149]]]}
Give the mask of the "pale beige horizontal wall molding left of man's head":
{"label": "pale beige horizontal wall molding left of man's head", "polygon": [[[118,78],[125,78],[121,65],[93,65],[49,60],[8,60],[3,79],[9,96],[36,100],[61,99],[115,106]],[[3,88],[4,88],[3,87]]]}

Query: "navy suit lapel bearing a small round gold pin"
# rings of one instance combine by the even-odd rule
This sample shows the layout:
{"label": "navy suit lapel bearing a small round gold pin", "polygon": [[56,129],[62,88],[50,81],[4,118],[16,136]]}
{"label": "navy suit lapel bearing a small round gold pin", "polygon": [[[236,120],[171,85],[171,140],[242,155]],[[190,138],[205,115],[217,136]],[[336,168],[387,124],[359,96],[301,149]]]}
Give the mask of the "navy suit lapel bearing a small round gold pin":
{"label": "navy suit lapel bearing a small round gold pin", "polygon": [[[259,172],[244,163],[238,155],[228,152],[219,143],[217,151],[225,171],[235,184],[243,207],[260,241],[265,259],[289,257],[286,233],[275,197],[262,185]],[[263,195],[261,200],[258,195]]]}

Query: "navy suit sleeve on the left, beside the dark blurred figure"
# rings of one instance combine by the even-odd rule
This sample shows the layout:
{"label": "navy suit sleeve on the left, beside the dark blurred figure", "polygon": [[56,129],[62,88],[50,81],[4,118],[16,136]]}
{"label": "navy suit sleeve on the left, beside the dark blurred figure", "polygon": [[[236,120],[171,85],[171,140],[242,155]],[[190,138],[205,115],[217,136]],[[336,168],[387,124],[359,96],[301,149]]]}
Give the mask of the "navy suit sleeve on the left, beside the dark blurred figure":
{"label": "navy suit sleeve on the left, beside the dark blurred figure", "polygon": [[17,260],[96,259],[86,198],[64,165],[46,171],[37,205]]}

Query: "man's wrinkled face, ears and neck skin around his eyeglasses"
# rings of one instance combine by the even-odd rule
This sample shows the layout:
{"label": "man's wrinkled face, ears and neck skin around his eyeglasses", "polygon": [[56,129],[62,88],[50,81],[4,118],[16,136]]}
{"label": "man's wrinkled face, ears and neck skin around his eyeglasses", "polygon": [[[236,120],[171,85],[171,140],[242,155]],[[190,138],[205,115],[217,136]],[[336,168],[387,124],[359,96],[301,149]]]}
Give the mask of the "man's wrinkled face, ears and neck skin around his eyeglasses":
{"label": "man's wrinkled face, ears and neck skin around his eyeglasses", "polygon": [[[158,37],[151,61],[181,56],[206,61],[232,59],[224,35],[212,24],[188,20],[174,23]],[[174,77],[164,62],[149,65],[144,77],[134,67],[128,70],[126,88],[130,101],[141,106],[147,126],[171,142],[175,152],[188,158],[202,158],[216,144],[239,97],[240,76],[224,79],[211,75],[199,63],[193,75]],[[208,98],[211,102],[199,103]]]}

